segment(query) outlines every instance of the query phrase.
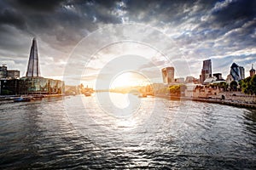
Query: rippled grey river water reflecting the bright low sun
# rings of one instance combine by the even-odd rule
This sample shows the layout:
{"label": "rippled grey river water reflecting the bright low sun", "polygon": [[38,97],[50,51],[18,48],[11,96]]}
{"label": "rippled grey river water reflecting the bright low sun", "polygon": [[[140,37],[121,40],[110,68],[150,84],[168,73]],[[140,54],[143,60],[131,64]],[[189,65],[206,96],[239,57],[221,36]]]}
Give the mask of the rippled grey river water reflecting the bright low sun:
{"label": "rippled grey river water reflecting the bright low sun", "polygon": [[255,110],[124,96],[2,101],[0,169],[256,168]]}

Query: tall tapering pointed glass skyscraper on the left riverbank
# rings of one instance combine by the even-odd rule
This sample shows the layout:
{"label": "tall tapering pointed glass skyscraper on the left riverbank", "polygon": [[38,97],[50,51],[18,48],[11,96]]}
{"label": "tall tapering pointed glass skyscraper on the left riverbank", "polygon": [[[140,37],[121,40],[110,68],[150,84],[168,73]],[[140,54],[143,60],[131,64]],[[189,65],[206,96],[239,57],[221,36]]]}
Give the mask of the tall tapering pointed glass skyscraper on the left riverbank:
{"label": "tall tapering pointed glass skyscraper on the left riverbank", "polygon": [[26,77],[40,77],[37,40],[34,37],[29,54]]}

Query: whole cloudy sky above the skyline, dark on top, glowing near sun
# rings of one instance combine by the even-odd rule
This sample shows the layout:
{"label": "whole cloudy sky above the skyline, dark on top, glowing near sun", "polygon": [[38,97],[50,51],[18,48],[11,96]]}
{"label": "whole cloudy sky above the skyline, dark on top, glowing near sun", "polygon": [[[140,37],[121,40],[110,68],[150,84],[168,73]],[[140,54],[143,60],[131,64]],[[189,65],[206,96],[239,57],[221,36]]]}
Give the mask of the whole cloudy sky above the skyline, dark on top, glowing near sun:
{"label": "whole cloudy sky above the skyline, dark on top, glowing near sun", "polygon": [[1,0],[0,64],[25,76],[33,37],[42,76],[67,84],[109,85],[129,71],[160,82],[165,66],[199,78],[204,59],[212,73],[226,78],[236,62],[247,77],[256,65],[256,1]]}

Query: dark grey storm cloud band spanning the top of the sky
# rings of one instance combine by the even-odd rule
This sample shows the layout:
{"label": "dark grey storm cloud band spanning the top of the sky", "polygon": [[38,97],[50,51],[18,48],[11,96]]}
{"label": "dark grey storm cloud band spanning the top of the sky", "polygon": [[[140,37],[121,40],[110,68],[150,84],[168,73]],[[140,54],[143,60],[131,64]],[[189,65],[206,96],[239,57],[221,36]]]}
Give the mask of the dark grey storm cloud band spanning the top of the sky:
{"label": "dark grey storm cloud band spanning the top of the sky", "polygon": [[[210,38],[223,35],[234,26],[242,26],[247,20],[253,20],[255,16],[255,1],[235,1],[226,6],[218,5],[218,1],[104,1],[104,0],[11,0],[3,1],[3,12],[0,15],[0,25],[9,24],[25,30],[26,25],[34,34],[46,33],[55,34],[58,41],[65,41],[76,36],[68,36],[70,31],[84,36],[81,29],[93,31],[97,23],[117,24],[121,19],[112,14],[115,9],[126,12],[122,17],[129,18],[129,21],[153,23],[154,26],[162,26],[161,23],[172,23],[172,26],[179,26],[188,19],[189,24],[197,24],[193,30],[195,36],[202,36],[202,33]],[[124,6],[118,3],[123,2]],[[195,6],[197,7],[195,10]],[[40,13],[47,11],[48,13]],[[209,13],[206,21],[201,21],[201,16]],[[234,20],[236,21],[234,23]],[[238,22],[241,20],[241,22]],[[60,30],[60,27],[65,29]],[[207,31],[215,26],[214,31]],[[216,27],[217,26],[217,27]],[[218,30],[224,26],[222,31]],[[208,28],[208,29],[207,29]],[[72,33],[71,33],[72,34]],[[65,36],[67,38],[65,38]],[[202,37],[201,37],[202,38]],[[77,40],[77,38],[75,38]],[[200,37],[198,40],[201,40]],[[187,42],[189,43],[189,42]]]}

